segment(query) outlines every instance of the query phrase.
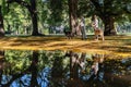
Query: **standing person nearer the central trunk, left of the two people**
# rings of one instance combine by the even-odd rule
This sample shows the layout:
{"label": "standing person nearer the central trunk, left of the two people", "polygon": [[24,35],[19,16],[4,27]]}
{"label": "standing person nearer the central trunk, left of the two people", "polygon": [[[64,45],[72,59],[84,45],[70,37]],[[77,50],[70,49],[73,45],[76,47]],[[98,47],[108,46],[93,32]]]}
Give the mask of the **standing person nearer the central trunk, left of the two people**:
{"label": "standing person nearer the central trunk, left of the two people", "polygon": [[85,30],[85,20],[83,16],[81,17],[80,26],[81,26],[82,39],[84,40],[86,39],[86,30]]}

